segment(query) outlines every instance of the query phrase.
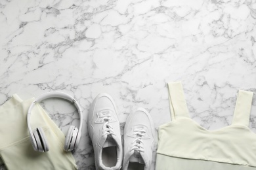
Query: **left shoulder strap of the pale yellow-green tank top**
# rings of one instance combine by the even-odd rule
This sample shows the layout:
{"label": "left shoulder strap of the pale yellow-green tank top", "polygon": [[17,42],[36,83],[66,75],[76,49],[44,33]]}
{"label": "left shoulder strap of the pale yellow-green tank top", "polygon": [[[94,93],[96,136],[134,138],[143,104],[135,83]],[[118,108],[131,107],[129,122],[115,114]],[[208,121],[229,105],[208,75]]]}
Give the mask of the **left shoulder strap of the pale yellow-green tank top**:
{"label": "left shoulder strap of the pale yellow-green tank top", "polygon": [[189,118],[181,82],[168,82],[171,120]]}

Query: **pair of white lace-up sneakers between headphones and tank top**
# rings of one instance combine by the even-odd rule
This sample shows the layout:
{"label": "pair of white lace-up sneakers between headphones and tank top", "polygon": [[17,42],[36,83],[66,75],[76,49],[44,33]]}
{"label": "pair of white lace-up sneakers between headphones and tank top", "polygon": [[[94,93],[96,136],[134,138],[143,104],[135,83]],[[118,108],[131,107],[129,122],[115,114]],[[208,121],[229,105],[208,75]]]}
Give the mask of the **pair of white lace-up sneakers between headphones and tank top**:
{"label": "pair of white lace-up sneakers between headphones and tank top", "polygon": [[154,124],[145,109],[129,114],[124,129],[124,154],[116,105],[110,95],[100,93],[88,116],[88,131],[95,151],[97,170],[150,169],[154,148]]}

